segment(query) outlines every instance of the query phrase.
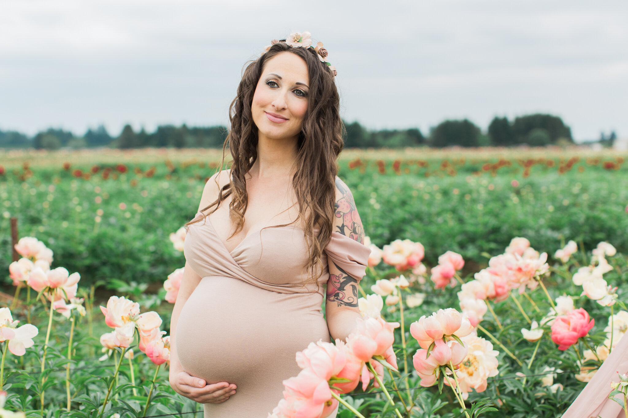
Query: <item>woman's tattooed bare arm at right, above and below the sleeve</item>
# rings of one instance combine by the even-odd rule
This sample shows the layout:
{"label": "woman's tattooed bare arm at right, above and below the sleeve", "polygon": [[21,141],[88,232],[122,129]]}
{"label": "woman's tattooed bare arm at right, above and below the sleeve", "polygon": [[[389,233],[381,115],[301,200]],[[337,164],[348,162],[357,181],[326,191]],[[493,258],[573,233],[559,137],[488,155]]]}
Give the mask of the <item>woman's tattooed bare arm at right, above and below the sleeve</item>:
{"label": "woman's tattooed bare arm at right, above and below the sleeve", "polygon": [[[343,234],[360,244],[364,244],[362,221],[355,208],[355,202],[349,187],[336,177],[336,202],[333,231]],[[332,339],[344,341],[356,327],[355,320],[362,318],[357,300],[358,279],[350,276],[329,258],[329,280],[325,316]],[[361,279],[361,278],[359,278]]]}

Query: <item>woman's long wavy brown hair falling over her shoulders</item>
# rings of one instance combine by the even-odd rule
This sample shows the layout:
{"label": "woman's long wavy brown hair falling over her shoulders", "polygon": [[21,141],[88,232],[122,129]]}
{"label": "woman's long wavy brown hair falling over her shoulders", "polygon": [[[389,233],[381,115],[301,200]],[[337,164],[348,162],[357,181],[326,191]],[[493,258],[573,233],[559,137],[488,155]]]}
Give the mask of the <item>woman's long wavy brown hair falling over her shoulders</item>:
{"label": "woman's long wavy brown hair falling over her shoulders", "polygon": [[[233,158],[230,165],[229,184],[225,184],[220,189],[218,199],[203,208],[203,213],[214,207],[205,215],[208,216],[218,209],[220,202],[232,196],[229,203],[229,217],[236,223],[236,230],[229,238],[242,231],[244,213],[248,205],[244,175],[257,160],[257,127],[252,118],[251,103],[264,70],[264,63],[283,52],[293,53],[303,58],[310,76],[308,109],[298,137],[297,167],[292,181],[299,214],[290,224],[300,219],[304,220],[301,223],[305,237],[308,238],[308,263],[303,266],[303,269],[308,271],[308,280],[304,281],[304,285],[310,281],[318,284],[318,278],[323,271],[321,256],[332,236],[335,179],[338,174],[338,155],[344,147],[342,137],[345,127],[340,118],[340,97],[332,71],[318,59],[314,50],[293,48],[279,42],[273,44],[257,60],[250,61],[246,65],[237,88],[237,96],[229,107],[230,130],[222,147],[222,162],[219,166],[219,170],[224,167],[225,152],[229,148]],[[218,185],[217,177],[215,180]],[[186,226],[191,222],[188,222]],[[315,226],[320,229],[318,234],[314,233]]]}

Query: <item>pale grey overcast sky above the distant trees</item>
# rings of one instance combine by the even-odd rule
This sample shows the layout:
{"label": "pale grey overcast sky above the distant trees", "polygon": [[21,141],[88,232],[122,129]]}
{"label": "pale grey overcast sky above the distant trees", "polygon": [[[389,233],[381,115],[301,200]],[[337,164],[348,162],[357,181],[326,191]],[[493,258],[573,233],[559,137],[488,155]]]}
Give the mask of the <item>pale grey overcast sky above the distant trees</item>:
{"label": "pale grey overcast sky above the distant trees", "polygon": [[628,135],[625,0],[0,0],[0,129],[226,124],[242,66],[310,31],[345,120],[560,115]]}

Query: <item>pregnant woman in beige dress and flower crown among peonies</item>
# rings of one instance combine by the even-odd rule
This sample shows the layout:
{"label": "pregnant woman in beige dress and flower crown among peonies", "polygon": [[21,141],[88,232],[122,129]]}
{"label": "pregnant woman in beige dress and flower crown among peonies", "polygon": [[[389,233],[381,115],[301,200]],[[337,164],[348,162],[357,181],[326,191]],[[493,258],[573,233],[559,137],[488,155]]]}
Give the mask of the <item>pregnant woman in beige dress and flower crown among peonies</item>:
{"label": "pregnant woman in beige dress and flower crown among peonies", "polygon": [[223,148],[232,165],[186,224],[170,384],[205,418],[266,418],[300,371],[295,353],[344,340],[360,317],[370,250],[337,177],[342,120],[326,57],[296,33],[246,67]]}

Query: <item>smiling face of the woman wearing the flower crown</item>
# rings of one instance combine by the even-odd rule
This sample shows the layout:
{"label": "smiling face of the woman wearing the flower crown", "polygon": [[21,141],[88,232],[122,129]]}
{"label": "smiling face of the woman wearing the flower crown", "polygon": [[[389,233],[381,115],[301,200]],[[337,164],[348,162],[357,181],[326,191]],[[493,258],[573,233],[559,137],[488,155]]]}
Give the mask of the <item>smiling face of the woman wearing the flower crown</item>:
{"label": "smiling face of the woman wearing the flower crown", "polygon": [[271,139],[296,137],[308,109],[310,77],[303,58],[281,52],[264,63],[251,112],[262,135]]}

